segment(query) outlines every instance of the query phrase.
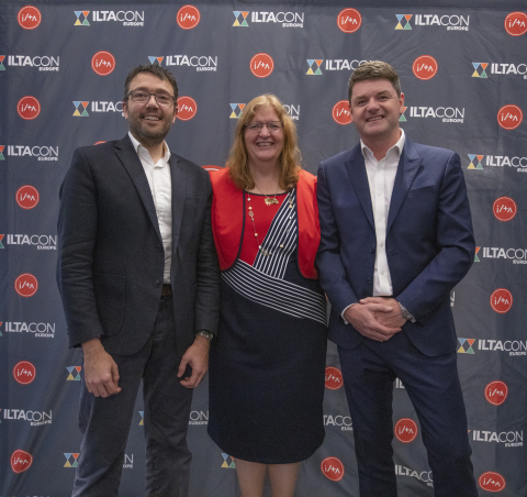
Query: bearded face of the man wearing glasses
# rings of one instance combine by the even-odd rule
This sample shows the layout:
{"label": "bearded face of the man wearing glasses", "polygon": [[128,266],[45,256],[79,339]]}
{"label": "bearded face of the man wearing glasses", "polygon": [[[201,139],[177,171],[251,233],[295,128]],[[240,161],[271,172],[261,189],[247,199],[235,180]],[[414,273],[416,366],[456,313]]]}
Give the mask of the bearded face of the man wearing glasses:
{"label": "bearded face of the man wearing glasses", "polygon": [[[150,73],[139,73],[130,81],[130,91],[144,90],[148,93],[166,93],[173,97],[169,81],[159,79]],[[172,103],[161,107],[150,96],[146,103],[136,103],[130,96],[123,102],[123,113],[135,139],[145,147],[162,143],[170,126],[176,121],[177,107]]]}

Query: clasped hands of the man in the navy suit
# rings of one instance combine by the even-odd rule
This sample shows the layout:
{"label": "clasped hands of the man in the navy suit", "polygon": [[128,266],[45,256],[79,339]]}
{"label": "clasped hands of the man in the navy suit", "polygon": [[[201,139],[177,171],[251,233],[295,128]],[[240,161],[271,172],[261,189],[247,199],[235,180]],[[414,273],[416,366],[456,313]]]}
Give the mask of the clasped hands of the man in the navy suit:
{"label": "clasped hands of the man in the navy suit", "polygon": [[[375,301],[365,302],[368,299],[362,299],[359,303],[348,307],[344,317],[363,336],[377,342],[385,342],[400,332],[401,325],[404,323],[395,324],[390,319],[384,319],[384,314],[393,313],[393,306],[385,305],[385,299],[369,298],[375,299]],[[401,316],[401,308],[399,303],[395,302],[395,305]]]}

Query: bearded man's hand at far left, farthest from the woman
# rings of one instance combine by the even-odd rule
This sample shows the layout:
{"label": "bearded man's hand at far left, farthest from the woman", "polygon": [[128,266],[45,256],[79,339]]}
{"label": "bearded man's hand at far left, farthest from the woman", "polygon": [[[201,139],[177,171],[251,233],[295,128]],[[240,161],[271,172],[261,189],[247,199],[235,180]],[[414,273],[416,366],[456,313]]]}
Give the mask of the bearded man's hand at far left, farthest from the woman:
{"label": "bearded man's hand at far left, farthest from the woman", "polygon": [[85,382],[90,394],[106,398],[119,394],[119,368],[99,338],[82,343]]}

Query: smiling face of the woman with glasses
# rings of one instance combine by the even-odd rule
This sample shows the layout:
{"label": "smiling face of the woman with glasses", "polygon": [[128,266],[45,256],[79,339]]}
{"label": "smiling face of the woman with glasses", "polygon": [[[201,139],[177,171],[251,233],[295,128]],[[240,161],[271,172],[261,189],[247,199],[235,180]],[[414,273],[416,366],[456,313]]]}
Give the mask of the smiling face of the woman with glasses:
{"label": "smiling face of the woman with glasses", "polygon": [[[280,118],[272,107],[266,106],[256,110],[251,121],[268,123],[269,121],[280,121]],[[244,140],[249,166],[258,163],[274,163],[278,167],[278,159],[283,150],[283,128],[272,133],[267,126],[262,126],[260,132],[253,132],[246,128]]]}

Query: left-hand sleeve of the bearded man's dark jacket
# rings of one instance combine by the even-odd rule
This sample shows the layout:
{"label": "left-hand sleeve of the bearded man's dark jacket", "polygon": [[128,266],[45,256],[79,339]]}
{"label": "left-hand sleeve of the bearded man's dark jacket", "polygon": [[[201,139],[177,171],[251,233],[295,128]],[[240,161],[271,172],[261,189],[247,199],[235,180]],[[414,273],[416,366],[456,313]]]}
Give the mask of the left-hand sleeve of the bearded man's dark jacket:
{"label": "left-hand sleeve of the bearded man's dark jacket", "polygon": [[97,191],[89,162],[77,148],[60,187],[57,285],[69,345],[103,334],[93,294],[92,262],[98,227]]}

